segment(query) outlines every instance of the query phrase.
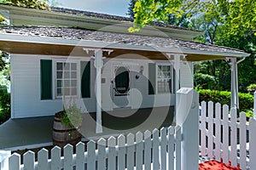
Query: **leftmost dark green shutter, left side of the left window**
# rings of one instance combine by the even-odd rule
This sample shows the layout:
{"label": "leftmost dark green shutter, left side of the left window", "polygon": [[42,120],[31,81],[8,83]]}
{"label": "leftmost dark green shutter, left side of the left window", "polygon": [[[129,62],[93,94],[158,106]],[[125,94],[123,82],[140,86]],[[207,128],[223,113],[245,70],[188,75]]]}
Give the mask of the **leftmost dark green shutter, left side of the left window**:
{"label": "leftmost dark green shutter, left side of the left window", "polygon": [[52,61],[40,60],[41,99],[52,99]]}

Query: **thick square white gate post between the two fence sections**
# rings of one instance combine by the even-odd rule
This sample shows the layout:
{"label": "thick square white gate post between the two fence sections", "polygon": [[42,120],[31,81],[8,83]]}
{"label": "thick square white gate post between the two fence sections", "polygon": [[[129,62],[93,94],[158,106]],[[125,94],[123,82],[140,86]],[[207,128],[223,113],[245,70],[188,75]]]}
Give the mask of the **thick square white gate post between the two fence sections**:
{"label": "thick square white gate post between the two fence sections", "polygon": [[199,95],[193,88],[180,88],[176,94],[176,122],[181,127],[181,169],[198,170]]}

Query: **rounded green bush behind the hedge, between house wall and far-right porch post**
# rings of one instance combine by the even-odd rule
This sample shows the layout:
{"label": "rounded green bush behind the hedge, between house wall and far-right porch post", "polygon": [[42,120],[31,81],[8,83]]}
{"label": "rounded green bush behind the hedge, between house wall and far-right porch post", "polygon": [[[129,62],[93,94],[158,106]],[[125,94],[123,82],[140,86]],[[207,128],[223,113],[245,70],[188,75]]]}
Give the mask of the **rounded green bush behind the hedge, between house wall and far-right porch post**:
{"label": "rounded green bush behind the hedge, between house wall and far-right porch post", "polygon": [[204,89],[213,89],[216,86],[214,77],[202,73],[195,73],[194,83],[195,86],[200,86]]}

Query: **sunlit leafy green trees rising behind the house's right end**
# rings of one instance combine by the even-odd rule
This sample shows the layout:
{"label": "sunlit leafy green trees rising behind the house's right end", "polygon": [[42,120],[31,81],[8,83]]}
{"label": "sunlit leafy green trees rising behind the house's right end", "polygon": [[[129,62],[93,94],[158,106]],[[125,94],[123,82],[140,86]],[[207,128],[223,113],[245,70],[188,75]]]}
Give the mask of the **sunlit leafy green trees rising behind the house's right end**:
{"label": "sunlit leafy green trees rising behind the house's right end", "polygon": [[[130,31],[139,31],[154,20],[166,20],[176,26],[186,26],[203,31],[196,41],[230,48],[252,54],[238,65],[240,90],[246,91],[256,80],[256,3],[255,0],[138,0],[134,8],[135,24]],[[174,17],[173,17],[174,16]],[[180,20],[184,25],[180,25]],[[204,61],[196,71],[214,77],[219,89],[229,89],[230,67],[224,60]]]}

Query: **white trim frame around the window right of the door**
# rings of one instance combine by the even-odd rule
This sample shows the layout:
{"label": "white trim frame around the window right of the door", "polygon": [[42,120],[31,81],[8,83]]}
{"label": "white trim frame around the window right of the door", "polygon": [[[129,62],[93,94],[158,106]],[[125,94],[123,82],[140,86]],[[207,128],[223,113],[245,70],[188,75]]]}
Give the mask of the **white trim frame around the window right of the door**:
{"label": "white trim frame around the window right of the door", "polygon": [[[174,67],[173,67],[173,64],[170,63],[170,62],[156,62],[155,63],[156,65],[156,68],[155,68],[155,94],[173,94],[173,91],[174,91],[174,76],[173,76],[173,70],[174,70]],[[165,93],[159,93],[158,92],[158,71],[159,71],[159,65],[170,65],[171,66],[171,92],[168,93],[168,92],[165,92]]]}

